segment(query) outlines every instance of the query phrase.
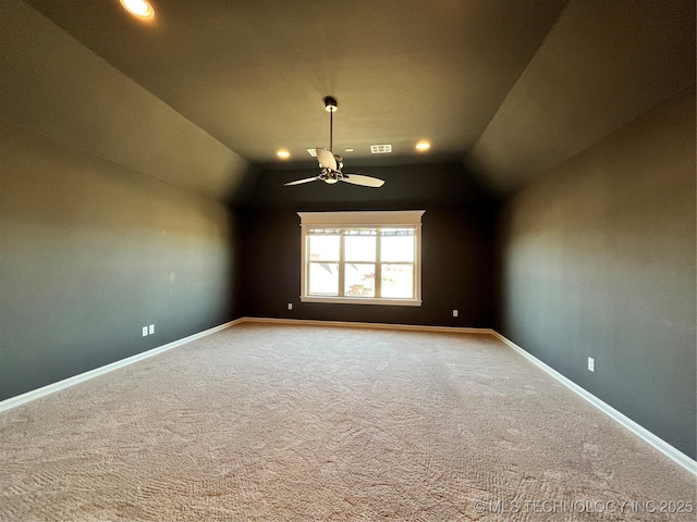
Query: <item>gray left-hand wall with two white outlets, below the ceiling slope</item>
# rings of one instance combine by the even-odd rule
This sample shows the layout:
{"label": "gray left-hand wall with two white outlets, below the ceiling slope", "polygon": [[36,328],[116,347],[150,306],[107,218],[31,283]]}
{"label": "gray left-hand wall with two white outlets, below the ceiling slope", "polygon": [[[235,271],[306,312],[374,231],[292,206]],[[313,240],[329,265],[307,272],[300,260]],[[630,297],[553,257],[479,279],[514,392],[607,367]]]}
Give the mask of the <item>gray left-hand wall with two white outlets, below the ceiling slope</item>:
{"label": "gray left-hand wall with two white outlets, below the ceiling slope", "polygon": [[0,400],[240,316],[237,226],[0,120]]}

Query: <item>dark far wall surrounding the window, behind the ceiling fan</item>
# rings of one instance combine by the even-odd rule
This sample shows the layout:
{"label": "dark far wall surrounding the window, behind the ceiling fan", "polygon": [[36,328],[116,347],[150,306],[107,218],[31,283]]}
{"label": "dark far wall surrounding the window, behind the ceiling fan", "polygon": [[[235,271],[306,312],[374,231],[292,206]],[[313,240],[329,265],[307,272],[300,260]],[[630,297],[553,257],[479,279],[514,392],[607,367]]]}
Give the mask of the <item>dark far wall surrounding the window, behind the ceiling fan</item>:
{"label": "dark far wall surrounding the window, behind the ceiling fan", "polygon": [[[421,164],[356,171],[386,179],[389,188],[321,182],[284,187],[284,182],[310,177],[317,170],[261,173],[243,213],[245,314],[491,327],[494,212],[464,167]],[[299,302],[297,211],[424,209],[421,307]],[[458,318],[452,316],[453,309]]]}

